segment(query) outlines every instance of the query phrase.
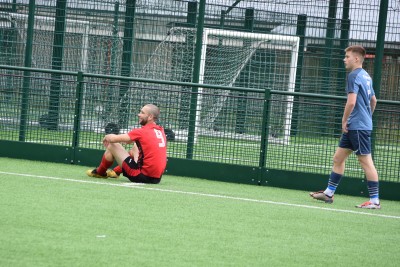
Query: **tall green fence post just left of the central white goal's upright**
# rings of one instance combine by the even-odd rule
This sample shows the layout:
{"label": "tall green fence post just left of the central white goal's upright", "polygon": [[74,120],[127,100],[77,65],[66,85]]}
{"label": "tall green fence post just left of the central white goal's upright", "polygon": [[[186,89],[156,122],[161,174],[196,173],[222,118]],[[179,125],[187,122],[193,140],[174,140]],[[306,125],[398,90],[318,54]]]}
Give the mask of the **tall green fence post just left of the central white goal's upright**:
{"label": "tall green fence post just left of the central white goal's upright", "polygon": [[[196,31],[196,48],[194,55],[193,64],[193,83],[199,83],[200,81],[200,61],[201,61],[201,51],[203,46],[203,32],[204,32],[204,15],[206,10],[206,0],[200,0],[199,3],[199,16],[197,20],[197,31]],[[188,129],[188,142],[186,148],[186,158],[193,158],[194,149],[194,137],[196,131],[196,109],[197,109],[197,99],[198,99],[198,87],[192,88],[192,94],[190,96],[190,106],[189,106],[189,129]]]}

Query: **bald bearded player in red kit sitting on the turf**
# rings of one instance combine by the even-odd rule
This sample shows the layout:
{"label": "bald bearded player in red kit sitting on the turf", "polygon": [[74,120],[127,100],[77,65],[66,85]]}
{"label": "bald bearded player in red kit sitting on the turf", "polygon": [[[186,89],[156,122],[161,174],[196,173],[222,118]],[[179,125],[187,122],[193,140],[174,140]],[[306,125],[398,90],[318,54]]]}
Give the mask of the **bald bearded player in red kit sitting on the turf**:
{"label": "bald bearded player in red kit sitting on the turf", "polygon": [[[141,128],[126,134],[108,134],[103,139],[104,152],[100,166],[86,174],[97,178],[117,178],[123,173],[131,182],[158,184],[167,164],[167,142],[164,129],[156,124],[157,106],[148,104],[138,114]],[[121,143],[133,143],[129,153]],[[114,170],[109,167],[117,161]]]}

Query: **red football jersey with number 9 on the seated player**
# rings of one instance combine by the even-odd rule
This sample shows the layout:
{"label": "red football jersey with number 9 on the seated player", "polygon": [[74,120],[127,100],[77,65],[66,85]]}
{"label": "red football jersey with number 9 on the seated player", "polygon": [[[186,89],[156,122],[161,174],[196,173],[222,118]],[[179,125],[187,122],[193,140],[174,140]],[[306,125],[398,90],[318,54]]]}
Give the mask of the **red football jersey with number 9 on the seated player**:
{"label": "red football jersey with number 9 on the seated player", "polygon": [[160,178],[167,165],[167,138],[163,127],[147,124],[128,133],[139,148],[138,165],[149,177]]}

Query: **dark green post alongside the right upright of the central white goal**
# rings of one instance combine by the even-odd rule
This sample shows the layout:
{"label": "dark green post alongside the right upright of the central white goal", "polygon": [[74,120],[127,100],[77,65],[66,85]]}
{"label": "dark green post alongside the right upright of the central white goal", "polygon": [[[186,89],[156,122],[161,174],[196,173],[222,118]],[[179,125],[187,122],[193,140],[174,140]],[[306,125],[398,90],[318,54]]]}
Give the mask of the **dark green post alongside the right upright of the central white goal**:
{"label": "dark green post alongside the right upright of the central white goal", "polygon": [[[304,60],[304,44],[306,37],[307,28],[307,15],[301,14],[297,16],[297,29],[296,35],[300,38],[299,41],[299,53],[297,56],[297,70],[296,70],[296,81],[295,81],[295,92],[300,92],[301,90],[301,77],[303,72],[303,60]],[[290,134],[297,134],[298,126],[298,116],[299,116],[299,97],[295,96],[293,99],[293,111],[292,111],[292,123],[290,125]]]}

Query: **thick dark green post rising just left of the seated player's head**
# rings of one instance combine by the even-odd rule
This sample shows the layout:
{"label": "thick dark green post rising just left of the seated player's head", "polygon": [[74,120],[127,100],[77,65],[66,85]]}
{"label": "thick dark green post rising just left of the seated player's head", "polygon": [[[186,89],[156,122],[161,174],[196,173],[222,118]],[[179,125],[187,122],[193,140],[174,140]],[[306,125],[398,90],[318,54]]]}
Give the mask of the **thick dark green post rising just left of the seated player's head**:
{"label": "thick dark green post rising just left of the seated player's head", "polygon": [[[129,77],[131,75],[134,24],[135,24],[136,0],[126,1],[125,24],[124,24],[124,44],[122,48],[121,76]],[[120,128],[128,125],[128,98],[125,96],[129,88],[129,81],[121,81],[119,90],[119,118],[118,124]]]}

